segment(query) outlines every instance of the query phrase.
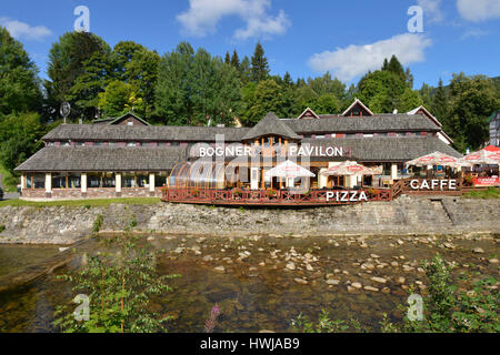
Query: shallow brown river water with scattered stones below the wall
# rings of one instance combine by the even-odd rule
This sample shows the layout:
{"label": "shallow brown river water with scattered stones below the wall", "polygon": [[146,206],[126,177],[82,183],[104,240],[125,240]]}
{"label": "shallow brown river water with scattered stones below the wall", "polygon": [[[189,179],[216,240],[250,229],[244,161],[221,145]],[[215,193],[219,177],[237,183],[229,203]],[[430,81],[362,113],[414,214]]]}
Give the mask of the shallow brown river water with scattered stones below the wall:
{"label": "shallow brown river water with scattered stones below the wall", "polygon": [[[408,294],[397,278],[404,276],[406,285],[417,281],[426,284],[424,274],[417,271],[418,263],[431,258],[438,251],[447,261],[459,264],[454,276],[468,268],[498,277],[498,267],[488,261],[493,255],[498,256],[496,239],[453,239],[454,250],[442,247],[442,243],[450,240],[431,241],[420,243],[412,237],[390,236],[366,240],[156,236],[148,243],[158,251],[166,250],[159,255],[158,273],[181,274],[182,277],[171,280],[169,284],[173,291],[152,300],[150,307],[176,317],[168,325],[169,332],[202,332],[216,303],[221,310],[216,332],[287,332],[291,331],[290,322],[299,313],[316,318],[322,308],[330,312],[332,320],[357,318],[364,326],[378,331],[382,313],[388,313],[394,321],[402,316],[398,305],[406,302]],[[338,246],[334,243],[339,243]],[[478,246],[486,253],[472,253],[472,248]],[[9,247],[0,246],[0,255],[9,254]],[[101,242],[86,242],[77,247],[72,263],[56,273],[77,267],[84,252],[96,253],[106,248]],[[36,254],[33,260],[38,261],[42,256],[37,250],[27,246],[23,258]],[[246,252],[250,255],[241,257]],[[207,255],[212,260],[203,260]],[[398,266],[390,265],[394,261]],[[287,270],[286,265],[290,262],[293,262],[294,271]],[[363,270],[360,267],[362,263],[371,263],[376,267]],[[384,263],[389,265],[377,267]],[[406,272],[401,267],[403,263],[412,263],[416,268]],[[466,267],[468,264],[474,266]],[[219,266],[223,266],[224,272],[218,272],[216,267]],[[332,274],[330,277],[339,280],[340,284],[329,286],[327,274]],[[378,284],[371,280],[373,276],[384,277],[387,283]],[[296,278],[304,280],[307,284],[299,284]],[[347,286],[354,282],[379,291],[350,293]],[[382,292],[383,287],[388,293]],[[426,293],[424,290],[421,292]],[[53,274],[28,286],[0,293],[0,331],[57,331],[51,325],[53,310],[73,296],[69,285],[56,281]]]}

